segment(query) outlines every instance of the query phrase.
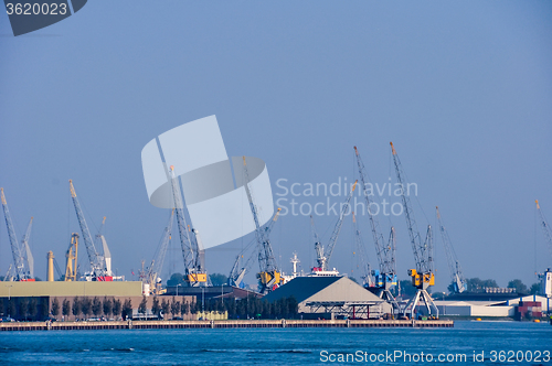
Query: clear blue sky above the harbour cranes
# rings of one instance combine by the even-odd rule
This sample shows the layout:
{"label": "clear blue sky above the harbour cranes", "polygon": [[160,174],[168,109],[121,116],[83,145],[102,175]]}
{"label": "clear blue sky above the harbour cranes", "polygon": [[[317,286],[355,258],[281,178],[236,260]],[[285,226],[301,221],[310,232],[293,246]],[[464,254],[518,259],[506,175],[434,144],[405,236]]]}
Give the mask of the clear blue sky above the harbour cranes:
{"label": "clear blue sky above the harbour cranes", "polygon": [[[137,279],[131,271],[151,261],[169,217],[149,203],[141,171],[156,136],[215,115],[229,155],[263,159],[275,201],[305,208],[344,193],[282,196],[280,186],[353,182],[353,146],[371,181],[396,182],[393,141],[417,186],[420,230],[436,225],[438,205],[467,278],[529,286],[552,267],[534,205],[552,219],[551,19],[549,1],[99,0],[14,37],[0,14],[0,186],[19,237],[34,217],[36,276],[45,278],[49,250],[64,268],[78,232],[72,179],[92,232],[107,217],[114,269]],[[414,259],[404,216],[379,217],[384,237],[396,228],[406,279]],[[322,241],[336,222],[315,217]],[[365,215],[359,225],[376,267]],[[284,271],[294,252],[309,271],[310,233],[308,215],[278,219],[272,240]],[[227,274],[252,239],[208,250],[208,271]],[[164,278],[182,268],[178,246]],[[434,246],[435,290],[444,291],[438,232]],[[1,224],[2,274],[10,262]],[[358,262],[348,216],[330,267],[360,278]]]}

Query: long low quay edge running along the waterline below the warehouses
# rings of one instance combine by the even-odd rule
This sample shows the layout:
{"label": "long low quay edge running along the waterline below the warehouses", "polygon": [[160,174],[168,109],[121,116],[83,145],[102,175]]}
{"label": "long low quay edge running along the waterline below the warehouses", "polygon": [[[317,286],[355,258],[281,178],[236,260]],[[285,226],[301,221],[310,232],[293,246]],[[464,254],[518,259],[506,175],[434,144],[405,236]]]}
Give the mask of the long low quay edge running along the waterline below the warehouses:
{"label": "long low quay edge running along the waterline below the warehouses", "polygon": [[221,321],[109,321],[109,322],[11,322],[0,332],[96,331],[161,329],[259,329],[259,327],[453,327],[452,320],[221,320]]}

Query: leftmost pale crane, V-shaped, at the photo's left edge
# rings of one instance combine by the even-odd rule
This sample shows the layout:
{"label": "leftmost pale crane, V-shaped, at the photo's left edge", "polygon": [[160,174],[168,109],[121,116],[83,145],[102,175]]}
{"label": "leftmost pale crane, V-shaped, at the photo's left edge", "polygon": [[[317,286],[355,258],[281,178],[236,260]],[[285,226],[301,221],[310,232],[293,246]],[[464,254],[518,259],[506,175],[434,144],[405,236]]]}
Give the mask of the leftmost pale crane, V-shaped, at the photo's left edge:
{"label": "leftmost pale crane, V-shaped, at the photo's left edge", "polygon": [[6,200],[6,194],[3,193],[3,189],[0,189],[2,208],[6,218],[6,225],[8,226],[8,237],[10,239],[11,254],[13,257],[13,278],[15,281],[34,281],[32,277],[31,266],[33,265],[33,258],[31,250],[29,248],[29,236],[31,235],[31,226],[33,218],[31,217],[31,222],[26,228],[25,235],[21,241],[21,246],[18,244],[18,238],[15,235],[15,228],[13,226],[13,222],[11,219],[10,209],[8,208],[8,202]]}

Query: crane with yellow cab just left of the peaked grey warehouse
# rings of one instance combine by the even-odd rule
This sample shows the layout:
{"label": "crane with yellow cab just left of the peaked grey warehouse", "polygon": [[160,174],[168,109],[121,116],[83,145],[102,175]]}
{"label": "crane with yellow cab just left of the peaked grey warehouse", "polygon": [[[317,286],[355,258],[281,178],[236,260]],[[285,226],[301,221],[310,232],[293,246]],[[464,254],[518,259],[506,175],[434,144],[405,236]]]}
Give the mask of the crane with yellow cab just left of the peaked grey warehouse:
{"label": "crane with yellow cab just left of the peaked grey warehouse", "polygon": [[267,293],[280,283],[280,271],[276,265],[276,259],[274,258],[273,246],[270,239],[265,230],[261,227],[258,223],[257,206],[253,200],[253,193],[250,187],[250,173],[247,170],[247,162],[245,157],[243,157],[243,172],[244,172],[244,187],[247,194],[247,201],[250,202],[251,213],[253,215],[253,220],[255,222],[255,238],[257,239],[258,249],[258,267],[259,272],[257,278],[259,280],[259,292]]}

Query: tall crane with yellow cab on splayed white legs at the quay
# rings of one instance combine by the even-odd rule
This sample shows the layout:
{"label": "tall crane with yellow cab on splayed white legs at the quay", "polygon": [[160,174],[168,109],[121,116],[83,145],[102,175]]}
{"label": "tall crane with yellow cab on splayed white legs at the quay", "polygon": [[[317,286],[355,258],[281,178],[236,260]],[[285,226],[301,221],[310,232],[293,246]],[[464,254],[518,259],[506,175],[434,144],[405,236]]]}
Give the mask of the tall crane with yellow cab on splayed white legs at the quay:
{"label": "tall crane with yellow cab on splayed white legs at the quay", "polygon": [[396,179],[401,186],[401,200],[404,208],[404,217],[406,218],[406,228],[408,232],[408,237],[412,244],[412,251],[414,252],[414,260],[416,262],[415,269],[408,270],[408,276],[412,279],[412,284],[417,289],[416,294],[408,301],[406,306],[403,309],[403,313],[412,317],[415,315],[416,305],[420,300],[424,301],[425,308],[427,309],[428,315],[434,315],[438,317],[439,310],[433,302],[432,297],[427,292],[431,286],[435,284],[435,271],[433,263],[433,234],[432,226],[427,226],[427,232],[425,240],[422,241],[422,235],[420,234],[416,219],[414,217],[414,211],[412,209],[412,204],[408,195],[405,192],[405,173],[403,171],[401,160],[395,151],[393,142],[390,142],[391,151],[393,153],[393,162],[395,165]]}

